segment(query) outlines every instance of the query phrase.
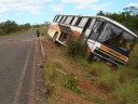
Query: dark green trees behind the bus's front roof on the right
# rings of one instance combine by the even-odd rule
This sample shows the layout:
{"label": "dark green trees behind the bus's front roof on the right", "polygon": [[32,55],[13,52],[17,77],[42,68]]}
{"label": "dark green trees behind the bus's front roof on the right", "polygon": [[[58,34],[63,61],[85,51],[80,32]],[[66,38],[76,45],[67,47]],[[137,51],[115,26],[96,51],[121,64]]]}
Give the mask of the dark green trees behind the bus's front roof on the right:
{"label": "dark green trees behind the bus's front roof on the right", "polygon": [[99,11],[97,15],[102,15],[112,18],[126,26],[132,31],[138,34],[138,8],[136,6],[125,8],[120,13],[104,13],[102,11]]}

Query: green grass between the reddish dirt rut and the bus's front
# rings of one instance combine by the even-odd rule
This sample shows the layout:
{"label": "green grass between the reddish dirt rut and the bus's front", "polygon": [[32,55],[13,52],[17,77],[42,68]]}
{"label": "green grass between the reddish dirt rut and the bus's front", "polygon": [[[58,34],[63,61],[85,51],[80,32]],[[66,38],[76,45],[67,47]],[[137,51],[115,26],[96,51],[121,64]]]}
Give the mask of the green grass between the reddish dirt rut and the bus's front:
{"label": "green grass between the reddish dirt rut and the bus's front", "polygon": [[[109,93],[112,104],[138,104],[138,44],[130,54],[129,62],[118,68],[108,67],[102,62],[86,63],[85,57],[71,58],[71,63],[82,69],[100,89]],[[97,100],[96,100],[97,101]]]}

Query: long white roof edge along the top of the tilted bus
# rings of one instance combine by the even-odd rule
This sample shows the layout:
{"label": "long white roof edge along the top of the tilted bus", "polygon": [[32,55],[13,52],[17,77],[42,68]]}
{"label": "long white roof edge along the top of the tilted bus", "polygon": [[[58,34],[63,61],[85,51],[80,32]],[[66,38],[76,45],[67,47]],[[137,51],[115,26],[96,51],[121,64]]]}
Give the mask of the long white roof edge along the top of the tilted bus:
{"label": "long white roof edge along the top of the tilted bus", "polygon": [[[61,14],[57,14],[57,15],[61,15]],[[89,15],[81,15],[81,14],[80,14],[80,15],[65,15],[65,16],[99,17],[99,18],[104,18],[104,20],[106,20],[106,21],[108,21],[108,22],[110,22],[110,23],[113,23],[113,24],[120,26],[122,29],[124,29],[124,30],[126,30],[127,32],[132,34],[134,37],[138,37],[136,34],[134,34],[133,31],[130,31],[128,28],[126,28],[126,27],[123,26],[122,24],[120,24],[120,23],[118,23],[118,22],[115,22],[115,21],[113,21],[113,20],[111,20],[111,18],[108,18],[108,17],[106,17],[106,16],[100,16],[100,15],[89,16]]]}

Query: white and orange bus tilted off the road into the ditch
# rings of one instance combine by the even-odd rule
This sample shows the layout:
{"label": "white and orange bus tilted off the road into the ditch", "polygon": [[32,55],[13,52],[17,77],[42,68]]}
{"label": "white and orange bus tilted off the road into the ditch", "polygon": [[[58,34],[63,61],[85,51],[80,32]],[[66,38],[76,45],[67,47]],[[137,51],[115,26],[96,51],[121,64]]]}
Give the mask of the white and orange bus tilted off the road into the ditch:
{"label": "white and orange bus tilted off the road into the ditch", "polygon": [[137,35],[105,16],[55,15],[47,34],[53,42],[66,44],[69,35],[83,37],[87,60],[105,60],[111,65],[125,65],[134,49]]}

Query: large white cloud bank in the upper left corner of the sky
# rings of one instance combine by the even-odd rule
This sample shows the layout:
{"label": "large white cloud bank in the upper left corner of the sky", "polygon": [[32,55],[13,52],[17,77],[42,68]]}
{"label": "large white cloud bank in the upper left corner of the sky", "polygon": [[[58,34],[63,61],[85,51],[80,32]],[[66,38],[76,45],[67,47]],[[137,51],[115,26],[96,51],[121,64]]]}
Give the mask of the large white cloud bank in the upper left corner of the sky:
{"label": "large white cloud bank in the upper left corner of the sky", "polygon": [[12,10],[27,11],[32,14],[40,14],[44,3],[52,0],[0,0],[0,12],[5,13]]}

